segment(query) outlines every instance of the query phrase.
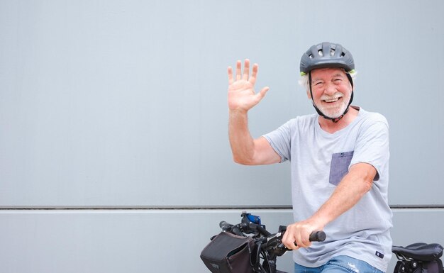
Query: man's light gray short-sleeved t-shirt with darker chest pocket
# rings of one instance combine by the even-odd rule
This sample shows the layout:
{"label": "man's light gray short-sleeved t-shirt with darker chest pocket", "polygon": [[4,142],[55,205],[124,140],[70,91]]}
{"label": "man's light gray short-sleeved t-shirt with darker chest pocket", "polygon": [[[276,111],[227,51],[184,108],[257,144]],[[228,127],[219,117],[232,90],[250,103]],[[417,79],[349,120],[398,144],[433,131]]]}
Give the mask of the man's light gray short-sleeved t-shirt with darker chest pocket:
{"label": "man's light gray short-sleeved t-shirt with darker chest pocket", "polygon": [[299,116],[264,135],[292,166],[294,220],[309,218],[331,196],[350,166],[365,162],[377,170],[372,189],[324,228],[327,239],[293,252],[294,262],[318,267],[348,255],[385,272],[392,257],[389,183],[389,126],[384,116],[362,108],[346,128],[322,130],[318,115]]}

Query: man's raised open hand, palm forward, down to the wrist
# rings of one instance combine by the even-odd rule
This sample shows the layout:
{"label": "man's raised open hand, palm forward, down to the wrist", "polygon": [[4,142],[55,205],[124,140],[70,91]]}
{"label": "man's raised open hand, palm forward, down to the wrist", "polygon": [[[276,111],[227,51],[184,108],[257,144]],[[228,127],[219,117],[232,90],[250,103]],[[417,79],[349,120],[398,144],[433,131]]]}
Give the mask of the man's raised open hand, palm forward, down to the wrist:
{"label": "man's raised open hand, palm forward, down to the wrist", "polygon": [[264,87],[260,92],[255,93],[255,83],[258,65],[252,66],[250,75],[250,60],[245,59],[242,71],[242,62],[236,62],[236,71],[233,75],[233,68],[228,67],[228,108],[231,111],[247,112],[258,104],[269,87]]}

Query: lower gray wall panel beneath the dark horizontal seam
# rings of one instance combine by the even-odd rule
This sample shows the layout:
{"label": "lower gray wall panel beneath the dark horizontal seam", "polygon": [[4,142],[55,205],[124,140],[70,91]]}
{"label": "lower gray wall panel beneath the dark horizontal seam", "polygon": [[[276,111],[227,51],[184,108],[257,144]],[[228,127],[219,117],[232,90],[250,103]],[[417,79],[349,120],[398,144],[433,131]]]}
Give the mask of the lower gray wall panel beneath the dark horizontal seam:
{"label": "lower gray wall panel beneath the dark horizontal seam", "polygon": [[[252,210],[270,231],[291,210]],[[36,210],[0,212],[0,272],[209,272],[199,255],[218,223],[241,210]],[[444,209],[394,209],[395,245],[444,245]],[[393,272],[395,260],[389,270]],[[292,255],[278,260],[292,272]]]}

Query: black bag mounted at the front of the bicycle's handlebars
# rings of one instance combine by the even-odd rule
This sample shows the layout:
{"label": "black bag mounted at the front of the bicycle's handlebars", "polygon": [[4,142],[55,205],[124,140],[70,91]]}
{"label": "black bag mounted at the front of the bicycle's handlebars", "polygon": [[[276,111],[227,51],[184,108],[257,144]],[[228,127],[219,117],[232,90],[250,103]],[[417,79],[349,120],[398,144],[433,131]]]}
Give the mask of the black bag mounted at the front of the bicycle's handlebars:
{"label": "black bag mounted at the front of the bicycle's handlebars", "polygon": [[213,273],[253,273],[250,237],[221,232],[201,252],[201,259]]}

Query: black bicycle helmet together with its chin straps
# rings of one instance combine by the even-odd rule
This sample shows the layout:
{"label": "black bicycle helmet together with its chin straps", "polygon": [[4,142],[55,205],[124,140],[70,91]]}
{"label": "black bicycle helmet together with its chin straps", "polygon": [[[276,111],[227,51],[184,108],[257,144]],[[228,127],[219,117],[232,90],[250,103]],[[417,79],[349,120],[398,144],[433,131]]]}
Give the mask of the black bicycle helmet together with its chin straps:
{"label": "black bicycle helmet together with its chin straps", "polygon": [[[319,110],[318,106],[316,106],[313,100],[313,91],[311,90],[311,70],[326,67],[339,67],[345,69],[348,80],[352,85],[352,94],[350,95],[348,106],[345,108],[344,113],[337,118],[326,116],[321,112],[321,110]],[[309,74],[310,95],[313,102],[313,107],[320,116],[333,121],[333,123],[337,123],[348,112],[350,109],[350,104],[352,104],[353,101],[353,79],[350,76],[350,72],[353,72],[354,69],[355,62],[353,61],[352,54],[340,44],[323,42],[318,45],[312,45],[311,48],[309,48],[309,50],[302,55],[300,65],[301,76]]]}

